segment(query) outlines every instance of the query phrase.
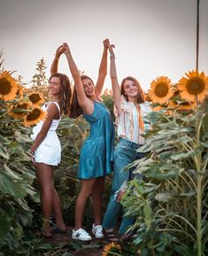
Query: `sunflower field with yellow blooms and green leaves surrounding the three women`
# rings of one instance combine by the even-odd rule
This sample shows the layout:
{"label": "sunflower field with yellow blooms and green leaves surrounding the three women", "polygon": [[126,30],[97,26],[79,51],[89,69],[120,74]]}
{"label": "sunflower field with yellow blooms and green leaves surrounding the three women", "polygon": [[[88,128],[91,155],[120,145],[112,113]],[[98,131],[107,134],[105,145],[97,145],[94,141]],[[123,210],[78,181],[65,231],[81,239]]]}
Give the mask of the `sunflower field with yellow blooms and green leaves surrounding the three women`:
{"label": "sunflower field with yellow blooms and green leaves surrounding the three women", "polygon": [[[46,117],[41,108],[47,100],[43,60],[36,71],[33,86],[27,88],[0,61],[1,256],[46,255],[36,236],[42,227],[42,210],[28,152],[31,128]],[[166,76],[151,82],[146,100],[153,111],[144,120],[151,128],[139,149],[147,156],[126,167],[135,166],[135,172],[144,178],[128,182],[121,201],[127,214],[135,216],[135,224],[128,230],[134,237],[127,243],[107,244],[103,256],[208,255],[207,97],[208,77],[197,70],[186,73],[176,84]],[[112,95],[104,94],[103,100],[112,112]],[[55,182],[66,225],[74,222],[80,190],[76,170],[88,133],[89,125],[82,118],[64,116],[58,126],[62,161],[55,170]],[[104,209],[110,189],[111,179],[106,181]],[[83,224],[91,222],[88,206]],[[53,255],[62,255],[58,253]]]}

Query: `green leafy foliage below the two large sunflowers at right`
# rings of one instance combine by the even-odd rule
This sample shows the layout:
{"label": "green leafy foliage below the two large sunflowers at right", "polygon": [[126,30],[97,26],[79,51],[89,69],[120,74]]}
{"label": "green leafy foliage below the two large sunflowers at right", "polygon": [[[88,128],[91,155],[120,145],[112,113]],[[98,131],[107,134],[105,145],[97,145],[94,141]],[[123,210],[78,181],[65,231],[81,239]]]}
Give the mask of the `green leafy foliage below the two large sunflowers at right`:
{"label": "green leafy foliage below the two large sunflowers at right", "polygon": [[131,229],[141,255],[205,255],[207,117],[204,107],[149,115],[153,128],[139,150],[149,154],[133,164],[145,182],[129,182],[123,199],[136,218]]}

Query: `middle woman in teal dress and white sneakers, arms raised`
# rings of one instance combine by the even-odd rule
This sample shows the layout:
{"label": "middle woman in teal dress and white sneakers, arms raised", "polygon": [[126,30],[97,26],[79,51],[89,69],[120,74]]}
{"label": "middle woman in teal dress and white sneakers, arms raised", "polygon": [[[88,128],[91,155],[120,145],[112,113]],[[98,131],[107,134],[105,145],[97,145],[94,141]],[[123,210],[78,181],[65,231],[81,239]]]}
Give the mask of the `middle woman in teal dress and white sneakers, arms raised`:
{"label": "middle woman in teal dress and white sneakers, arms raised", "polygon": [[73,90],[70,116],[76,118],[83,114],[90,125],[89,137],[81,147],[78,170],[78,177],[81,180],[81,191],[76,201],[75,227],[72,235],[73,239],[79,239],[81,241],[92,239],[89,233],[82,229],[82,218],[89,197],[92,199],[94,213],[92,233],[96,238],[104,237],[101,226],[104,177],[112,173],[114,142],[114,128],[111,113],[99,98],[107,74],[108,47],[109,40],[106,39],[104,40],[104,52],[96,86],[94,86],[89,76],[80,75],[66,43],[63,43],[58,48],[54,59],[54,66],[57,67],[56,60],[58,61],[60,54],[65,53],[71,74],[73,75],[75,88]]}

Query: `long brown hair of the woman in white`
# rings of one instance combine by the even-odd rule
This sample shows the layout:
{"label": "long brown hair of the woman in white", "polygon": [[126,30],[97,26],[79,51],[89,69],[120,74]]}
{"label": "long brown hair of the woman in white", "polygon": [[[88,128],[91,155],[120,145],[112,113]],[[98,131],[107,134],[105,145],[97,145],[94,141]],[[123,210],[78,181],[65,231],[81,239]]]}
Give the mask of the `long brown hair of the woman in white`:
{"label": "long brown hair of the woman in white", "polygon": [[60,79],[61,90],[58,97],[58,103],[60,105],[60,112],[64,112],[66,114],[69,112],[72,97],[72,89],[69,78],[67,75],[61,73],[51,74],[50,79],[52,77],[58,77]]}

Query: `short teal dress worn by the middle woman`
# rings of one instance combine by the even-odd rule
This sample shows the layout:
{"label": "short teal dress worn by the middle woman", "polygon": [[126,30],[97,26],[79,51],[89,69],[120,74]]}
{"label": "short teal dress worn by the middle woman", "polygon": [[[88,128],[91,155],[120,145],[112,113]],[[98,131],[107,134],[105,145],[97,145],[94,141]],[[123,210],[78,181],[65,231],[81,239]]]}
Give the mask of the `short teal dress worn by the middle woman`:
{"label": "short teal dress worn by the middle woman", "polygon": [[89,122],[89,136],[81,147],[79,179],[102,177],[112,173],[114,127],[111,113],[101,102],[94,102],[92,114],[83,113]]}

